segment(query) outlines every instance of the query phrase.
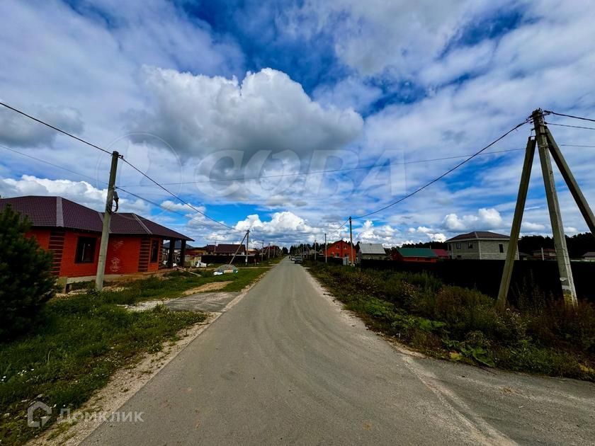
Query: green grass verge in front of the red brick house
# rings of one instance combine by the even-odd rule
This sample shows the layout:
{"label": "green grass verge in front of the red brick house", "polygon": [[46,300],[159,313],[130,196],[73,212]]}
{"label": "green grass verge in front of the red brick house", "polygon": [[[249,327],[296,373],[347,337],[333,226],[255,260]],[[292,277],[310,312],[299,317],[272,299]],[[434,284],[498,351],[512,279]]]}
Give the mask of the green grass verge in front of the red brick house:
{"label": "green grass verge in front of the red brick house", "polygon": [[209,282],[231,280],[222,290],[239,291],[266,270],[240,268],[237,274],[220,276],[210,270],[200,278],[174,272],[129,282],[118,292],[90,291],[50,301],[29,333],[0,343],[0,444],[23,444],[38,435],[39,429],[26,425],[33,401],[55,406],[53,415],[63,407],[77,408],[120,367],[158,352],[166,341],[176,341],[181,329],[206,317],[163,306],[132,312],[118,304],[179,297]]}

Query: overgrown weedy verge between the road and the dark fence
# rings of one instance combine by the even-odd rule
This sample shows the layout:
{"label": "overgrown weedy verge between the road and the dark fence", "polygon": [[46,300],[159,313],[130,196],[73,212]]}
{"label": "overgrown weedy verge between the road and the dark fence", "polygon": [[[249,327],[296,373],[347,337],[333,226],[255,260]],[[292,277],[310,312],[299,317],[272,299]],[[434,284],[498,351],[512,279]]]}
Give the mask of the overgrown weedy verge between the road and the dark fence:
{"label": "overgrown weedy verge between the road and the dark fence", "polygon": [[428,355],[506,370],[595,381],[595,306],[521,299],[499,313],[477,290],[426,273],[312,265],[346,309],[377,331]]}

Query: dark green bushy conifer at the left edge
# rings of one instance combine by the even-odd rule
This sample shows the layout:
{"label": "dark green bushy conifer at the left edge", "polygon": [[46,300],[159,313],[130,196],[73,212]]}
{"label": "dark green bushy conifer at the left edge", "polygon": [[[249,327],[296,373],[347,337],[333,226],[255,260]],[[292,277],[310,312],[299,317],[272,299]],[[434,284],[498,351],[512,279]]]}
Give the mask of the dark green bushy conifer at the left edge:
{"label": "dark green bushy conifer at the left edge", "polygon": [[0,337],[28,328],[55,294],[52,254],[33,237],[28,219],[6,206],[0,210]]}

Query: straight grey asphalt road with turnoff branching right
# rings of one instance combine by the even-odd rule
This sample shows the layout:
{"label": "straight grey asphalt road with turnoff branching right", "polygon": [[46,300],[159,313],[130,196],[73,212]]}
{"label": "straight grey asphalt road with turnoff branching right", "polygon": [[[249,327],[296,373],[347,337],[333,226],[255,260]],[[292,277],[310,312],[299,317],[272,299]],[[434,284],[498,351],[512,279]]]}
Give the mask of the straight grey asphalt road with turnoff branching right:
{"label": "straight grey asphalt road with turnoff branching right", "polygon": [[595,386],[400,353],[283,261],[103,423],[101,445],[595,444]]}

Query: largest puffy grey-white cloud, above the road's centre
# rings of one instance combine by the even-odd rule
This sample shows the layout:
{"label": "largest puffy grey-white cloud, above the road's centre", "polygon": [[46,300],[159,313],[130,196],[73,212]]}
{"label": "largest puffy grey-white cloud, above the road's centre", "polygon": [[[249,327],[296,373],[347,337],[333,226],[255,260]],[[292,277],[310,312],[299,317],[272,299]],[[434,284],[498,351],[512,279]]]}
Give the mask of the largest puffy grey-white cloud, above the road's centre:
{"label": "largest puffy grey-white cloud, above the road's centre", "polygon": [[145,68],[152,95],[147,111],[132,112],[135,132],[162,137],[185,156],[212,151],[337,149],[358,137],[360,115],[323,108],[302,86],[274,69],[233,77],[194,76],[173,69]]}

